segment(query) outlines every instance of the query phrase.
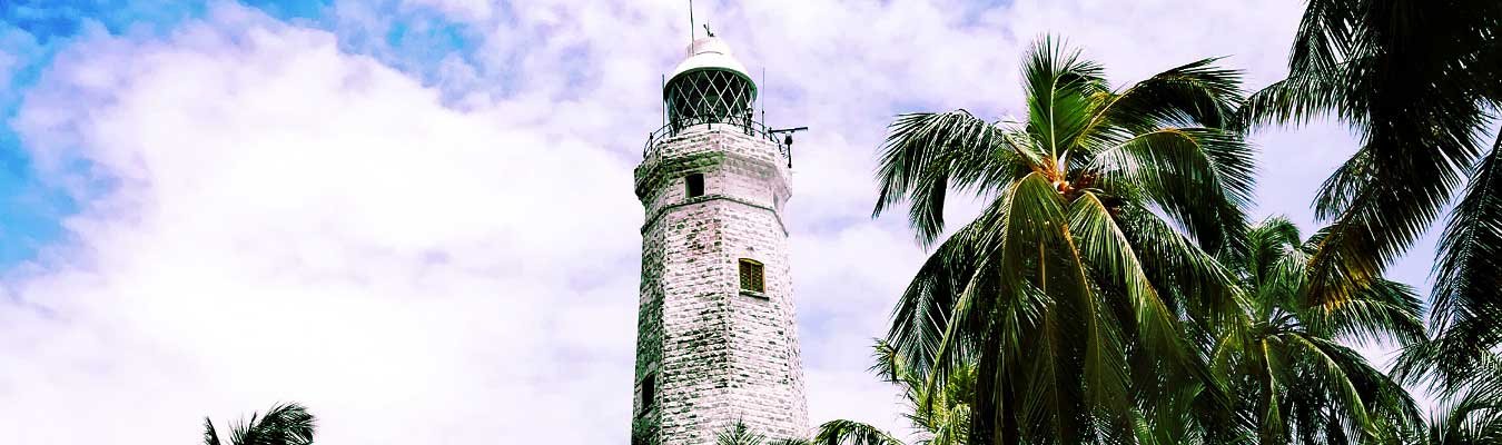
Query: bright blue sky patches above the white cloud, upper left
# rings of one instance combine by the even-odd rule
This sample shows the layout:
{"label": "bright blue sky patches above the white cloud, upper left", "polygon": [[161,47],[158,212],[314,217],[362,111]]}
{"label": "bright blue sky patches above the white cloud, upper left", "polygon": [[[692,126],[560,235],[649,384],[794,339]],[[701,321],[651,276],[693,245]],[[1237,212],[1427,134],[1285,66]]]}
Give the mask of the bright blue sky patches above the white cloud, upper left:
{"label": "bright blue sky patches above the white cloud, upper left", "polygon": [[[377,9],[372,12],[382,23],[363,26],[379,27],[374,30],[339,23],[333,17],[333,0],[239,3],[281,21],[333,32],[342,51],[372,56],[427,86],[439,84],[440,65],[451,54],[473,66],[473,51],[481,41],[476,32],[449,21],[439,11],[415,8],[397,14],[400,6],[394,2],[369,6]],[[185,21],[203,18],[210,5],[179,0],[20,0],[0,5],[0,271],[35,259],[42,248],[63,239],[62,221],[80,209],[65,189],[39,176],[35,159],[23,146],[24,140],[11,123],[26,92],[51,65],[53,56],[87,29],[114,36],[165,36]],[[87,177],[89,165],[69,165],[66,170],[66,174]],[[90,188],[107,189],[104,185]]]}

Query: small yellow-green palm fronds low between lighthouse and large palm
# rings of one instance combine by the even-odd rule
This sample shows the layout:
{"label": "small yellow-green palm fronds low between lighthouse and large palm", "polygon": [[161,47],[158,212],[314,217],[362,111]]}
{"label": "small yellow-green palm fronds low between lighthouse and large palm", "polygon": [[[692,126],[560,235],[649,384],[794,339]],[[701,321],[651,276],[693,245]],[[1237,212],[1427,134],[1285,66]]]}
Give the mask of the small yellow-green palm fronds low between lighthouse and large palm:
{"label": "small yellow-green palm fronds low between lighthouse and large palm", "polygon": [[[928,394],[903,356],[886,341],[876,343],[877,364],[873,371],[891,383],[903,386],[913,428],[922,431],[922,445],[966,445],[970,434],[970,400],[975,398],[975,365],[955,367],[939,394]],[[811,445],[904,445],[901,439],[870,424],[834,419],[819,425]]]}

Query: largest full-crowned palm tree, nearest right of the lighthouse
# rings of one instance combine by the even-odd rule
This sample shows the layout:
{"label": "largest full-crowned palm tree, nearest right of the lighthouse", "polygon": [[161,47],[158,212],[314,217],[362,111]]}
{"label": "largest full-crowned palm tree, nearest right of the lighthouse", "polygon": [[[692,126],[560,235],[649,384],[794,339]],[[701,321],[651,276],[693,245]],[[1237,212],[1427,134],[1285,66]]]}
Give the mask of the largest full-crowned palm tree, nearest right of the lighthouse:
{"label": "largest full-crowned palm tree, nearest right of the lighthouse", "polygon": [[1026,122],[892,123],[876,215],[909,201],[931,245],[951,188],[990,198],[918,271],[886,338],[930,388],[976,365],[972,443],[1120,440],[1139,404],[1218,392],[1181,320],[1233,302],[1212,254],[1245,227],[1253,167],[1224,129],[1239,74],[1214,62],[1111,90],[1045,38],[1023,63]]}

